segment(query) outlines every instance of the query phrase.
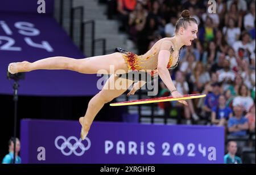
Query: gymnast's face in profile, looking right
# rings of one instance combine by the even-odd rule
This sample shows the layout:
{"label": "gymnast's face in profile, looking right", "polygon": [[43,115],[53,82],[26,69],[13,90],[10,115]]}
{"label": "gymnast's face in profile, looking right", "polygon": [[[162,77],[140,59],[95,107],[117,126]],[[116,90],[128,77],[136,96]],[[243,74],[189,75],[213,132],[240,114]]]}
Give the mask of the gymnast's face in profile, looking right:
{"label": "gymnast's face in profile, looking right", "polygon": [[186,28],[181,28],[181,36],[183,36],[184,45],[191,45],[192,41],[197,38],[196,33],[198,31],[197,24],[190,22]]}

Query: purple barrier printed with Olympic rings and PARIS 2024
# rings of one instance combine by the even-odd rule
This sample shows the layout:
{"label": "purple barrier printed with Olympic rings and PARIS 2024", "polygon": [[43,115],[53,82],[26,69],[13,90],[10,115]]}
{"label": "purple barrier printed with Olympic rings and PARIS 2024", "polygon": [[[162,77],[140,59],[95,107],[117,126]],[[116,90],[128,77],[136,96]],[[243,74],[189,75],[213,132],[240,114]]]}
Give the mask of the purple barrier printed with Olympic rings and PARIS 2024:
{"label": "purple barrier printed with Olympic rings and PARIS 2024", "polygon": [[223,163],[224,128],[77,121],[21,121],[22,163]]}

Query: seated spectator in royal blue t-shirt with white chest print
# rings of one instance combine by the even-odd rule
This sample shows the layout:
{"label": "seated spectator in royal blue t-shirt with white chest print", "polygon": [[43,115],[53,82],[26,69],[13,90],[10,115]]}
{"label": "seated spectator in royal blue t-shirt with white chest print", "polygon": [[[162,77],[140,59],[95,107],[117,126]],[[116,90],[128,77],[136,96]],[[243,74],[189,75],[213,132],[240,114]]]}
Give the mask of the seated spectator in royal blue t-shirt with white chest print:
{"label": "seated spectator in royal blue t-shirt with white chest print", "polygon": [[224,95],[218,98],[218,105],[212,108],[212,123],[218,126],[225,126],[229,118],[232,117],[232,109],[226,106]]}

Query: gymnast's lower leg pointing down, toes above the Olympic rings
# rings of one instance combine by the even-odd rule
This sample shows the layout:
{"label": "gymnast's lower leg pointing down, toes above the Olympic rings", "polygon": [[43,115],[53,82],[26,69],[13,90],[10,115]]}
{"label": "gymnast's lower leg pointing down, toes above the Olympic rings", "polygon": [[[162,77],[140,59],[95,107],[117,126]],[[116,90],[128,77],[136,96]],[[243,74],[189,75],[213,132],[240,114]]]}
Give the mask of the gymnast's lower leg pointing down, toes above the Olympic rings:
{"label": "gymnast's lower leg pointing down, toes above the Olympic rings", "polygon": [[[81,138],[83,140],[88,134],[88,131],[90,129],[90,126],[92,125],[93,119],[95,118],[97,113],[100,111],[100,109],[104,106],[104,104],[112,101],[115,97],[118,97],[119,95],[121,95],[123,92],[127,90],[127,88],[131,86],[131,84],[133,84],[133,80],[127,80],[127,79],[122,79],[121,84],[117,83],[121,79],[122,78],[118,78],[115,75],[110,76],[110,78],[105,83],[102,90],[98,92],[89,101],[85,116],[79,119],[79,122],[82,125]],[[113,89],[109,89],[109,87],[112,86],[110,85],[111,83],[115,83],[115,86]],[[117,85],[119,87],[117,87]],[[120,88],[120,89],[117,89],[117,88]]]}

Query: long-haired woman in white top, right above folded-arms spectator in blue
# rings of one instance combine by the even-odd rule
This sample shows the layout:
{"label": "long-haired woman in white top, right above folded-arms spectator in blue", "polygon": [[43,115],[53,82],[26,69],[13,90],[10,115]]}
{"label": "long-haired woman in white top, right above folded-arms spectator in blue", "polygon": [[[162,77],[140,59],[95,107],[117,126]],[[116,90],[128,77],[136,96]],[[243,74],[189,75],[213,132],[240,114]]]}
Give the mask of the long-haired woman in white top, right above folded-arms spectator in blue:
{"label": "long-haired woman in white top, right above folded-arms spectator in blue", "polygon": [[238,89],[238,96],[233,100],[233,106],[240,105],[246,112],[249,112],[251,105],[253,105],[253,99],[249,96],[247,87],[243,84]]}

